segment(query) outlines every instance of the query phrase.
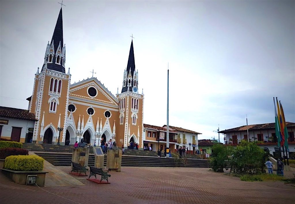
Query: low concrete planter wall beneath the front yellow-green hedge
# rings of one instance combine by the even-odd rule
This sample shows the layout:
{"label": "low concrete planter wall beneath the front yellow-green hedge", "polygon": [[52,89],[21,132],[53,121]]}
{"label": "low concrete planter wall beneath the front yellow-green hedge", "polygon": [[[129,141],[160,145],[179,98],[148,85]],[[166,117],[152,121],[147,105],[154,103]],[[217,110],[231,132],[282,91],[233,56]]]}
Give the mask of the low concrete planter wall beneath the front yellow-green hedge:
{"label": "low concrete planter wall beneath the front yellow-green hedge", "polygon": [[27,175],[37,175],[36,184],[38,186],[44,186],[45,176],[48,172],[38,172],[38,171],[14,171],[10,169],[1,169],[2,173],[7,177],[11,178],[15,183],[26,184]]}

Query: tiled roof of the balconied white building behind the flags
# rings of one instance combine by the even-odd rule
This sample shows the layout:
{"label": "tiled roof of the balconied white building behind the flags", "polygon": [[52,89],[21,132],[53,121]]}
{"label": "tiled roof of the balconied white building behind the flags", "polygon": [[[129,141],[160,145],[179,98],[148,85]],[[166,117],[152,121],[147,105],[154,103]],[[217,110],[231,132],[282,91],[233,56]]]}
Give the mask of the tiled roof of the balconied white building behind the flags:
{"label": "tiled roof of the balconied white building behind the flags", "polygon": [[[295,123],[286,122],[287,128],[295,128]],[[229,132],[244,132],[247,131],[247,129],[250,130],[269,130],[269,129],[275,129],[275,123],[264,123],[264,124],[258,124],[258,125],[243,125],[241,127],[237,128],[231,128],[228,130],[222,130],[219,133],[229,133]]]}

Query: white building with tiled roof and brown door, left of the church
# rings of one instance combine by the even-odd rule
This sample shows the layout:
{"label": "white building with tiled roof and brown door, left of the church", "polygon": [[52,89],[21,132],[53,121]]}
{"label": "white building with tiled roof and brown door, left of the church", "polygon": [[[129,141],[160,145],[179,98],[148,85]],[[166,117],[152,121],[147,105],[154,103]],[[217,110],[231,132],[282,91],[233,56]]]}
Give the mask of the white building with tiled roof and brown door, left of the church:
{"label": "white building with tiled roof and brown door, left of the church", "polygon": [[30,142],[35,114],[28,110],[0,106],[0,136],[16,142]]}

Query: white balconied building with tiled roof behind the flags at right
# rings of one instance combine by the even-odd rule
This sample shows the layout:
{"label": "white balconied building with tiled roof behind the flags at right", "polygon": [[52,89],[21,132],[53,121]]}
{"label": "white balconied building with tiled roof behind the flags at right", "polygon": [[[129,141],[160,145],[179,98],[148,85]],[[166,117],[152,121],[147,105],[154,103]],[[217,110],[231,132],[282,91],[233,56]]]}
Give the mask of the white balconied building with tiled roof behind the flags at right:
{"label": "white balconied building with tiled roof behind the flags at right", "polygon": [[[288,145],[289,156],[295,156],[295,123],[286,122],[288,130]],[[275,131],[275,123],[265,123],[257,125],[244,125],[237,128],[222,130],[219,133],[224,134],[225,145],[237,146],[242,140],[248,140],[247,129],[249,132],[249,141],[260,141],[258,145],[261,148],[268,148],[270,153],[273,154],[275,147],[277,147],[277,138]]]}

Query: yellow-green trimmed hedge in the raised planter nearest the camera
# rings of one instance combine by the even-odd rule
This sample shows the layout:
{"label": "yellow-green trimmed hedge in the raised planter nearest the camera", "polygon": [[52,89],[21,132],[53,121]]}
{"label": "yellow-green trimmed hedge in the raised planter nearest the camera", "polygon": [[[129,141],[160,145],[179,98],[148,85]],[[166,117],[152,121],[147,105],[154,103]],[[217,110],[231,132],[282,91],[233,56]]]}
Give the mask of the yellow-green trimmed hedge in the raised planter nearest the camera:
{"label": "yellow-green trimmed hedge in the raised planter nearest the camera", "polygon": [[4,168],[14,171],[42,171],[44,159],[37,155],[17,155],[5,158]]}

